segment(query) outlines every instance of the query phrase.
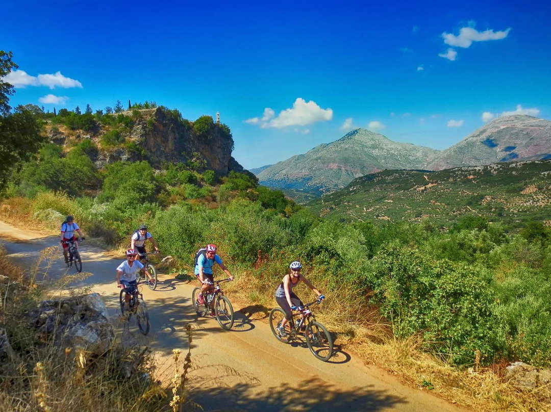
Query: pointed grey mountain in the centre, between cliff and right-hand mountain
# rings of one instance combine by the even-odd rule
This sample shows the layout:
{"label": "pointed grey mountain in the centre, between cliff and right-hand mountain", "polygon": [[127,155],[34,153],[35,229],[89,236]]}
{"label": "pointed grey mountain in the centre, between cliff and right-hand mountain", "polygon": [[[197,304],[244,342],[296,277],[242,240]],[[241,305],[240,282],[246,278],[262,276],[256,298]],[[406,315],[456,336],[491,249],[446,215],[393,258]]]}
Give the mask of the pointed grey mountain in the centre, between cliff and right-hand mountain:
{"label": "pointed grey mountain in the centre, between cliff and right-hand mountain", "polygon": [[355,129],[336,142],[268,167],[257,175],[261,185],[317,194],[334,191],[368,173],[384,169],[420,169],[438,150],[397,143],[382,134]]}

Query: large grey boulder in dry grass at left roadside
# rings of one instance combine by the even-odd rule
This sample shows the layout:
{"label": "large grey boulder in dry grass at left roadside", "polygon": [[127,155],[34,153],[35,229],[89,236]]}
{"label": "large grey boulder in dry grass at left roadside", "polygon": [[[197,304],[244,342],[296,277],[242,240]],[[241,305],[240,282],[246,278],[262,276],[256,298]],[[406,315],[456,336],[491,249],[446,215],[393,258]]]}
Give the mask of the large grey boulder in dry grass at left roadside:
{"label": "large grey boulder in dry grass at left roadside", "polygon": [[97,293],[45,300],[31,312],[31,323],[44,339],[60,347],[80,347],[100,355],[109,349],[115,331]]}

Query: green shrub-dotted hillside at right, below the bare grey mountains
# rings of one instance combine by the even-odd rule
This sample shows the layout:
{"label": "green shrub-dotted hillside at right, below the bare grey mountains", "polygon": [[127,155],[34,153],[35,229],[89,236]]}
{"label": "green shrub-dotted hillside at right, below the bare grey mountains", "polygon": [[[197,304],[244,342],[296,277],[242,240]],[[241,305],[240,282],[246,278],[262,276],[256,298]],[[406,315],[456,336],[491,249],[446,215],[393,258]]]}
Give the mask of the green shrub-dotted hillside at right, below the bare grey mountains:
{"label": "green shrub-dotted hillside at right, below the bare grey mountains", "polygon": [[437,172],[385,170],[354,180],[309,204],[330,219],[430,218],[449,226],[464,214],[512,227],[532,220],[551,225],[551,161],[507,162]]}

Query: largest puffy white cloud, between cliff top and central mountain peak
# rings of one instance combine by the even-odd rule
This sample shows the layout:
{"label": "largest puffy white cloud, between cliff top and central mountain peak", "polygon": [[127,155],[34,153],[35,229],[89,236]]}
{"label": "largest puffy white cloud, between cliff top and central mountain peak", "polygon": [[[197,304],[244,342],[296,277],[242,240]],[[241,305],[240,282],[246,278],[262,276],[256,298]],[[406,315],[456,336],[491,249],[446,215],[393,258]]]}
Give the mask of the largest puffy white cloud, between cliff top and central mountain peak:
{"label": "largest puffy white cloud, between cliff top and central mountain peak", "polygon": [[284,128],[288,126],[307,126],[316,122],[325,122],[332,120],[333,110],[322,109],[316,102],[310,100],[306,102],[301,97],[297,97],[293,103],[293,107],[279,112],[277,117],[274,117],[275,112],[266,107],[262,118],[252,117],[245,120],[245,123],[260,124],[261,128]]}

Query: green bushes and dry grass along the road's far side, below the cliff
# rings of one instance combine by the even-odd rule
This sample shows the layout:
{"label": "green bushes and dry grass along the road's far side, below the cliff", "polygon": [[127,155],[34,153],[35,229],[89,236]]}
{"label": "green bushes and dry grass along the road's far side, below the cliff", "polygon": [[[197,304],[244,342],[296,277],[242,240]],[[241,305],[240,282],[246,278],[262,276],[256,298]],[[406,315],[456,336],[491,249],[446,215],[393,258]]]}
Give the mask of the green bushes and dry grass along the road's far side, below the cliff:
{"label": "green bushes and dry grass along the road's far side, below the cliff", "polygon": [[[120,106],[109,114],[118,113],[111,127],[119,132],[101,144],[126,144]],[[138,116],[143,109],[134,110]],[[51,131],[55,122],[41,111],[35,120],[48,121]],[[72,113],[56,116],[94,117],[88,108]],[[212,118],[188,123],[209,138]],[[93,132],[89,124],[74,127]],[[246,172],[218,176],[194,161],[153,169],[145,160],[96,169],[97,149],[89,140],[41,145],[4,184],[0,219],[53,231],[72,214],[87,236],[110,248],[126,247],[145,223],[179,273],[191,271],[199,247],[215,243],[237,275],[229,291],[264,309],[274,306],[289,262],[300,260],[327,297],[320,319],[343,350],[477,409],[551,408],[542,392],[516,393],[504,380],[510,361],[551,366],[551,229],[543,219],[512,228],[465,213],[446,229],[430,219],[327,220]],[[42,357],[48,359],[37,351],[31,360]]]}

